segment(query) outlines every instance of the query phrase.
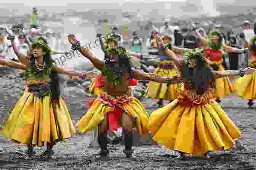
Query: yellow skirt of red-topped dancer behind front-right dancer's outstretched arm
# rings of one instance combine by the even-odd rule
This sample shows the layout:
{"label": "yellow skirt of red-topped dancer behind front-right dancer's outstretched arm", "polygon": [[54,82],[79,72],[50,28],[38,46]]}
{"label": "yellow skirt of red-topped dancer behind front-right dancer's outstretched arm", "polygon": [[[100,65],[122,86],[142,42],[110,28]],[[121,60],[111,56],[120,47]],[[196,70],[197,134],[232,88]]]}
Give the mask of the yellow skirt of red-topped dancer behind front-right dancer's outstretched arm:
{"label": "yellow skirt of red-topped dancer behind front-right dancer's outstretched arm", "polygon": [[[219,66],[218,71],[225,71],[222,65]],[[216,91],[214,91],[214,97],[224,98],[227,95],[233,94],[234,89],[228,77],[221,77],[216,79]]]}

